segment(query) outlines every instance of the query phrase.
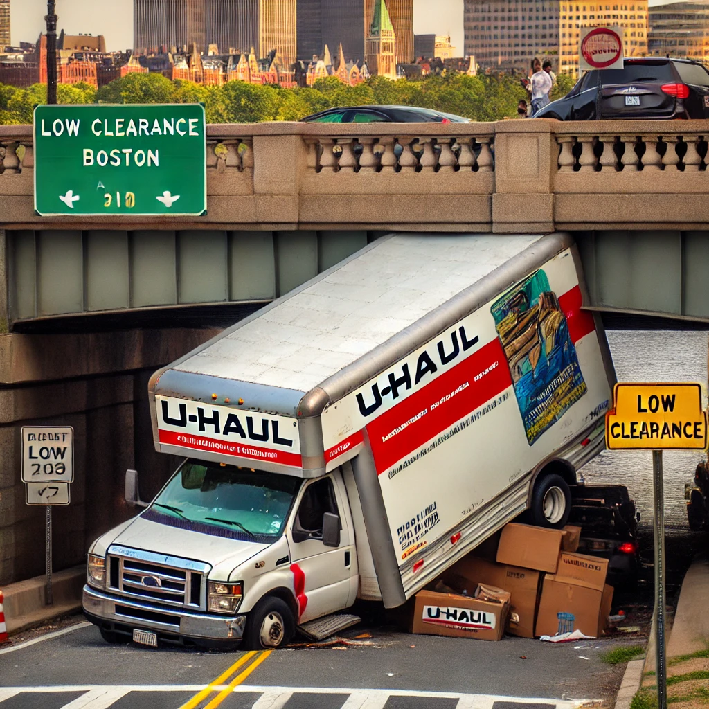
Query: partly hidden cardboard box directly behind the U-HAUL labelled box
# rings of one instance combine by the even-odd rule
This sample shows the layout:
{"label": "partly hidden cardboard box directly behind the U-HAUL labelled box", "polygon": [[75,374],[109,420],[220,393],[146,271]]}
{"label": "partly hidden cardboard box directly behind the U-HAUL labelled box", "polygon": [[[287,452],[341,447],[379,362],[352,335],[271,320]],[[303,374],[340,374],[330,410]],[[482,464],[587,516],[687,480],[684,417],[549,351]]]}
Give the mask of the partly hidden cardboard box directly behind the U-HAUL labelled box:
{"label": "partly hidden cardboard box directly behind the U-HAUL labelled box", "polygon": [[542,581],[540,571],[467,556],[454,564],[444,579],[456,591],[465,588],[469,593],[474,591],[477,584],[504,588],[510,593],[506,632],[518,637],[534,637]]}

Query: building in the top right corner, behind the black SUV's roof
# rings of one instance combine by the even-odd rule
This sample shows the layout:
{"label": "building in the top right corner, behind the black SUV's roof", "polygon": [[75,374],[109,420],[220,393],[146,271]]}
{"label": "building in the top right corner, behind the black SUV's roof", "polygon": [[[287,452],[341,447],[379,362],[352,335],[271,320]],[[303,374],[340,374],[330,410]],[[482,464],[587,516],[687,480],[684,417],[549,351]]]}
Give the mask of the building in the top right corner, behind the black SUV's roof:
{"label": "building in the top right corner, behind the black SUV's roof", "polygon": [[648,10],[647,53],[709,61],[709,2],[688,0]]}

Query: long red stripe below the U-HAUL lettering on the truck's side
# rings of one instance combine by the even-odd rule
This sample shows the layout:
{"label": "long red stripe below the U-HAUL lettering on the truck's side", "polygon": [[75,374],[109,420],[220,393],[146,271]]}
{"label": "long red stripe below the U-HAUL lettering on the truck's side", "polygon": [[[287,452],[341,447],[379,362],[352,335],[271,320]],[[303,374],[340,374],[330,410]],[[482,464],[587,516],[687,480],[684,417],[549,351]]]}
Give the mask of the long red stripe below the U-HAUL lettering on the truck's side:
{"label": "long red stripe below the U-HAUL lettering on the truck's side", "polygon": [[367,424],[377,474],[508,386],[510,368],[496,338]]}

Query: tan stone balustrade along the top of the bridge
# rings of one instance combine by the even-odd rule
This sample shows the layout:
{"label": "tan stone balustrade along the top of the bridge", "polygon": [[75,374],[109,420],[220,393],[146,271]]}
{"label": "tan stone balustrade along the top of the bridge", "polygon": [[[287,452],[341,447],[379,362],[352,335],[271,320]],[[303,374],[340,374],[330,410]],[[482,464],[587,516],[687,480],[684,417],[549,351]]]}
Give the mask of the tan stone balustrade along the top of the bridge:
{"label": "tan stone balustrade along the top of the bridge", "polygon": [[[208,213],[179,228],[705,229],[709,206],[696,197],[709,191],[708,139],[709,121],[210,125]],[[33,167],[31,126],[0,126],[0,213],[12,228],[175,228],[37,217]]]}

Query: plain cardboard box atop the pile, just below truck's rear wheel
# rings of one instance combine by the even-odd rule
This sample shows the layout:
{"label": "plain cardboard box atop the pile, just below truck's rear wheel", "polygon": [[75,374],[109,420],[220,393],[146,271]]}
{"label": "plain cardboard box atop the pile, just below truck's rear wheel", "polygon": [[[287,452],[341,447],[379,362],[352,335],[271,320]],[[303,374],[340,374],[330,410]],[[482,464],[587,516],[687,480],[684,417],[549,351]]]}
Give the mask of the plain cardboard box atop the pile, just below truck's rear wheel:
{"label": "plain cardboard box atop the pile, just below truck's rear wheel", "polygon": [[556,574],[564,535],[564,530],[510,523],[503,527],[497,561]]}

